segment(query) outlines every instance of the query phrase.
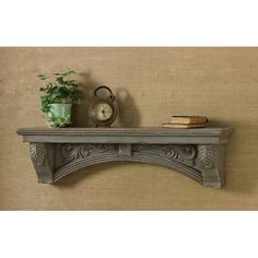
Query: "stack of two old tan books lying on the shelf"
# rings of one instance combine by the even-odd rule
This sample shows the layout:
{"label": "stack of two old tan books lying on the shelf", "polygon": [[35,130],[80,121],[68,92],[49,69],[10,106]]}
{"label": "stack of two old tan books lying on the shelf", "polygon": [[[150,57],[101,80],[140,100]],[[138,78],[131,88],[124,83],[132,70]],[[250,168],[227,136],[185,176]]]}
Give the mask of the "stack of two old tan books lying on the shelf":
{"label": "stack of two old tan books lying on the shelf", "polygon": [[162,124],[165,128],[199,128],[208,122],[204,116],[172,116],[169,122]]}

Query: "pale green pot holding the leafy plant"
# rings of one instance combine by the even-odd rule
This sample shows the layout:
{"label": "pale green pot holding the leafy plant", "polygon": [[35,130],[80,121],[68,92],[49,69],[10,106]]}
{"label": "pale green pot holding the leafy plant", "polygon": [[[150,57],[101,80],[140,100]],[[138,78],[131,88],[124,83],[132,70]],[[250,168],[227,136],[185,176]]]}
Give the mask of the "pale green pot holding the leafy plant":
{"label": "pale green pot holding the leafy plant", "polygon": [[71,125],[72,104],[50,104],[50,112],[47,114],[49,127],[68,127]]}

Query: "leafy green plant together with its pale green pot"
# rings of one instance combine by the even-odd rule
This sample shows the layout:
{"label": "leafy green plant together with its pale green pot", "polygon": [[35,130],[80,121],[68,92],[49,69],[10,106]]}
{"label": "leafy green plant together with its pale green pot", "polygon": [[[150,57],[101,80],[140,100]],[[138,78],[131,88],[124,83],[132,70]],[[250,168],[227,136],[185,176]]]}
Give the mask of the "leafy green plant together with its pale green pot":
{"label": "leafy green plant together with its pale green pot", "polygon": [[40,103],[49,127],[67,127],[71,124],[72,104],[83,96],[77,81],[71,79],[73,74],[74,71],[68,70],[63,73],[54,73],[52,77],[37,75],[44,82],[44,86],[39,89],[44,92]]}

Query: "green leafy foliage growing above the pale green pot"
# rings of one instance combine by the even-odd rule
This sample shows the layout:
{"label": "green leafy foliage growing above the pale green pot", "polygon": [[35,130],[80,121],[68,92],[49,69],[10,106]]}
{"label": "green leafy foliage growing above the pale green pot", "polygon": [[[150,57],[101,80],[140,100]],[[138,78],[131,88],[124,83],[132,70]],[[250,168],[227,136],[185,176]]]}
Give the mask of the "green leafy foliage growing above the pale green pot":
{"label": "green leafy foliage growing above the pale green pot", "polygon": [[73,104],[82,98],[82,91],[78,89],[77,81],[71,78],[73,74],[75,72],[69,69],[63,73],[37,75],[44,82],[44,86],[39,89],[44,92],[40,96],[43,113],[50,112],[50,104]]}

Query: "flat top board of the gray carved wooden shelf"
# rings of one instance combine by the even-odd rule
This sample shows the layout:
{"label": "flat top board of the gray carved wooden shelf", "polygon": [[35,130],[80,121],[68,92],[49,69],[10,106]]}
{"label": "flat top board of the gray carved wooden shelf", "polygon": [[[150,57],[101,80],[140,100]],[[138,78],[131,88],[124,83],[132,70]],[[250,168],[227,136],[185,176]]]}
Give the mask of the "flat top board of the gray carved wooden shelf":
{"label": "flat top board of the gray carved wooden shelf", "polygon": [[137,127],[137,128],[45,128],[31,127],[19,128],[20,136],[201,136],[201,137],[221,137],[228,136],[233,131],[231,127],[206,127],[206,128],[161,128],[161,127]]}

